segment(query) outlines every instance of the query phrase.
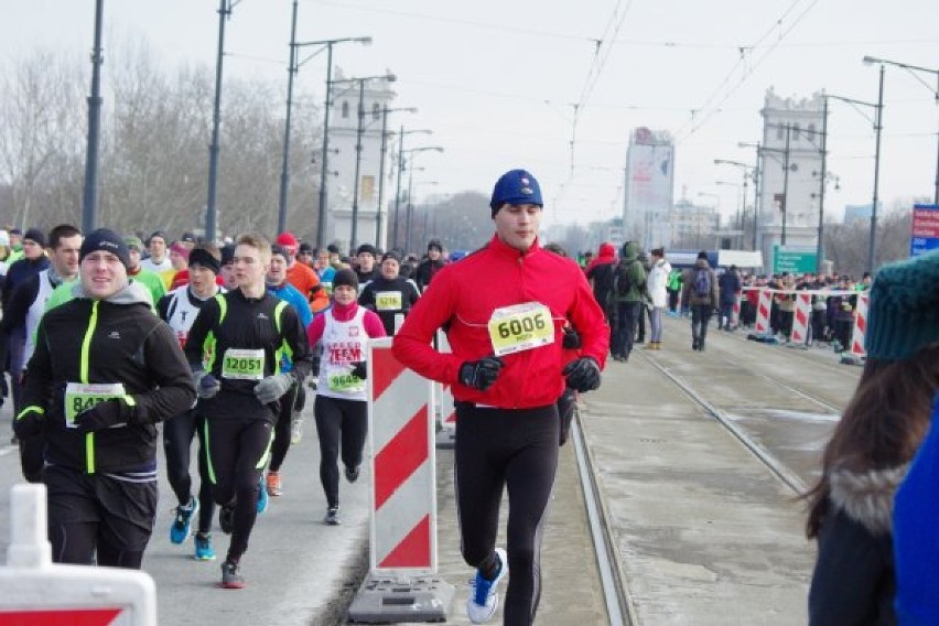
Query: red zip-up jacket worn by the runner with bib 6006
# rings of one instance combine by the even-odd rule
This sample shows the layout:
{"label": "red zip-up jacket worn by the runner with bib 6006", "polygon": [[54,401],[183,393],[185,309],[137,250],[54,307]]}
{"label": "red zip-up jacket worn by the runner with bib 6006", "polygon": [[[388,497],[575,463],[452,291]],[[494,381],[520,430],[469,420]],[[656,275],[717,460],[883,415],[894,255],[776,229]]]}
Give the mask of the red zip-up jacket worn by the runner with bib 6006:
{"label": "red zip-up jacket worn by the runner with bib 6006", "polygon": [[[460,366],[493,354],[487,324],[493,311],[539,302],[551,310],[554,343],[503,356],[495,385],[479,391],[460,382]],[[553,403],[564,390],[561,349],[564,322],[581,334],[581,354],[606,363],[609,327],[583,271],[571,259],[542,250],[538,240],[521,252],[497,236],[482,250],[444,267],[395,336],[395,357],[421,376],[452,385],[456,400],[528,409]],[[452,354],[433,349],[431,338],[447,325]]]}

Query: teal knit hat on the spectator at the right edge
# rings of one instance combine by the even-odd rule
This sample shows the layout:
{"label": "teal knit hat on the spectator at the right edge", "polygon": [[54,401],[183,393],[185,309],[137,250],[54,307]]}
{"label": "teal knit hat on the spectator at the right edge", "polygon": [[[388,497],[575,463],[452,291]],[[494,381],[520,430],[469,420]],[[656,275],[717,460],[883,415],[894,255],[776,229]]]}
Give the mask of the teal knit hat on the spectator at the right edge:
{"label": "teal knit hat on the spectator at the right edge", "polygon": [[882,267],[871,287],[867,356],[909,358],[939,343],[939,250]]}

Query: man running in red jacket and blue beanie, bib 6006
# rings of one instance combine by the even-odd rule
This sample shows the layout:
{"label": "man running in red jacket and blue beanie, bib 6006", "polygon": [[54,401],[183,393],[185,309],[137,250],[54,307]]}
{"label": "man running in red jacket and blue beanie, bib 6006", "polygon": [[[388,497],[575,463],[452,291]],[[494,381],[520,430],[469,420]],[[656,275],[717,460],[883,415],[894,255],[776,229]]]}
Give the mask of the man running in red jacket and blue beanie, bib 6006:
{"label": "man running in red jacket and blue beanie, bib 6006", "polygon": [[[470,619],[488,622],[496,586],[511,569],[505,624],[531,624],[540,596],[540,542],[558,465],[555,401],[566,386],[600,386],[609,328],[580,268],[538,244],[538,182],[512,170],[490,203],[496,235],[482,250],[443,268],[395,337],[395,356],[452,385],[456,400],[456,483],[461,547],[477,569]],[[485,284],[485,289],[472,285]],[[564,364],[562,328],[582,337]],[[445,327],[452,354],[433,349]],[[508,487],[509,553],[496,549],[499,503]]]}

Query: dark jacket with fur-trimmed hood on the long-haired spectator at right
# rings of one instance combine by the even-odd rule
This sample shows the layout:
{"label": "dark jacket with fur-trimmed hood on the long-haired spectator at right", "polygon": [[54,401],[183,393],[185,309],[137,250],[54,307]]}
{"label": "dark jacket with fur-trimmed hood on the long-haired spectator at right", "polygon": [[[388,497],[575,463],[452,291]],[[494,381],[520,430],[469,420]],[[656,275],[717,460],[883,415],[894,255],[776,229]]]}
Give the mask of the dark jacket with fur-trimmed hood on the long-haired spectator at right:
{"label": "dark jacket with fur-trimmed hood on the long-haired spectator at right", "polygon": [[896,624],[891,516],[906,471],[832,472],[809,591],[810,625]]}

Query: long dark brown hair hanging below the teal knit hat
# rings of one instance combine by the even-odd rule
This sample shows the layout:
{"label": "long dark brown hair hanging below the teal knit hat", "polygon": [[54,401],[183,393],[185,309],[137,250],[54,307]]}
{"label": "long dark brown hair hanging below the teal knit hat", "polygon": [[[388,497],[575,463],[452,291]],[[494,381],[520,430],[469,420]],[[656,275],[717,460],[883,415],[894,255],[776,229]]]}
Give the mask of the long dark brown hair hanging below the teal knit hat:
{"label": "long dark brown hair hanging below the teal knit hat", "polygon": [[865,472],[909,463],[926,431],[939,388],[939,346],[907,359],[868,359],[822,456],[822,475],[809,500],[806,535],[818,536],[829,512],[832,470]]}

